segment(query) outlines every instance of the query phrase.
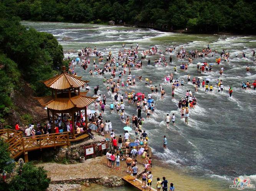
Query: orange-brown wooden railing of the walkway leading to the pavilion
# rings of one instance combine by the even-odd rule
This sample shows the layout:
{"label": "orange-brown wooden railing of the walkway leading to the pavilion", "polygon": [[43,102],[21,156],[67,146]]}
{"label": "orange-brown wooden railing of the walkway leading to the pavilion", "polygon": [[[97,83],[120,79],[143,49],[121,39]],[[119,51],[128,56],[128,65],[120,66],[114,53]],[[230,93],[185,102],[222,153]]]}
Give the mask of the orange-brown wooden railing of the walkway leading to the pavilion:
{"label": "orange-brown wooden railing of the walkway leading to the pavilion", "polygon": [[0,130],[0,138],[9,144],[9,151],[13,159],[22,153],[48,147],[70,145],[69,132],[44,134],[33,137],[22,137],[22,132],[12,129]]}

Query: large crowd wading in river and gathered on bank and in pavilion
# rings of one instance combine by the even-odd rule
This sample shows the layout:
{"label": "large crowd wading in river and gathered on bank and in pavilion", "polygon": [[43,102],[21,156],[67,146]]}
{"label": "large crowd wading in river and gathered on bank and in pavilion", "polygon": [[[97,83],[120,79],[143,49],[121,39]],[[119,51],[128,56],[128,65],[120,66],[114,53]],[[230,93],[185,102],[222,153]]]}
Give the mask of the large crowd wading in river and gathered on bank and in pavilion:
{"label": "large crowd wading in river and gathered on bank and in pavilion", "polygon": [[[97,96],[97,99],[94,102],[94,113],[90,113],[87,117],[89,118],[89,123],[92,123],[97,126],[96,132],[104,136],[105,134],[110,134],[112,149],[107,151],[106,159],[107,166],[110,168],[116,168],[120,170],[120,162],[125,160],[127,165],[127,173],[134,176],[134,181],[137,181],[137,173],[139,172],[138,166],[136,165],[138,162],[138,158],[140,157],[142,163],[144,164],[144,168],[146,172],[142,174],[142,188],[146,188],[148,185],[151,188],[153,175],[151,171],[152,167],[152,159],[149,155],[149,145],[148,140],[149,137],[146,133],[146,130],[143,128],[145,118],[150,118],[150,115],[154,114],[156,109],[156,102],[153,99],[156,97],[156,94],[160,94],[160,99],[165,99],[166,92],[161,84],[156,86],[153,84],[152,79],[145,78],[144,83],[145,86],[149,88],[147,93],[145,92],[135,92],[134,90],[129,91],[128,88],[132,88],[137,83],[143,83],[142,76],[132,75],[132,68],[142,69],[143,60],[147,57],[147,55],[155,55],[160,54],[160,57],[155,59],[155,66],[168,66],[168,64],[172,64],[172,55],[169,57],[169,63],[167,62],[165,56],[163,55],[162,50],[158,50],[157,46],[153,46],[152,49],[143,50],[141,53],[141,58],[139,58],[139,44],[137,43],[135,47],[130,47],[130,49],[126,49],[126,45],[122,44],[122,50],[119,50],[117,55],[113,55],[111,51],[107,53],[105,56],[103,52],[97,50],[97,47],[94,49],[90,47],[86,47],[82,49],[78,53],[78,58],[71,59],[68,57],[69,62],[69,73],[76,76],[75,67],[76,65],[80,65],[82,70],[88,70],[88,66],[92,66],[94,70],[89,70],[89,75],[91,77],[94,76],[104,76],[106,73],[110,73],[111,77],[107,79],[104,77],[103,84],[105,84],[107,92],[111,92],[114,95],[114,99],[110,96],[98,94],[99,85],[94,87],[94,96]],[[175,52],[175,46],[167,47],[165,49],[165,53],[173,54]],[[209,47],[198,50],[190,50],[187,52],[184,47],[180,47],[177,53],[177,60],[183,61],[187,60],[187,63],[180,64],[180,71],[187,71],[188,66],[193,64],[193,59],[195,58],[203,58],[203,57],[214,57],[218,54],[216,50],[212,51]],[[255,54],[255,52],[254,52]],[[92,62],[90,57],[94,55]],[[236,57],[238,54],[236,53]],[[229,63],[230,52],[226,52],[225,50],[221,51],[220,57],[216,57],[216,64],[220,65],[220,63],[226,62]],[[245,58],[245,54],[243,53],[243,58]],[[105,62],[106,59],[106,62]],[[97,60],[97,63],[96,63]],[[255,59],[254,59],[255,61]],[[151,61],[148,59],[147,65],[150,65]],[[207,62],[197,63],[197,71],[200,73],[207,73],[212,71],[213,64],[208,64]],[[220,69],[220,78],[223,74],[224,68]],[[128,71],[128,75],[126,72]],[[246,72],[249,72],[249,66],[246,67]],[[173,67],[173,73],[170,73],[164,76],[164,85],[170,83],[171,91],[172,91],[172,99],[174,99],[175,91],[179,88],[184,88],[184,84],[191,84],[194,87],[194,91],[197,92],[200,88],[205,92],[213,92],[214,89],[218,89],[218,92],[222,92],[225,90],[223,85],[223,80],[218,79],[216,81],[215,86],[213,86],[209,79],[202,80],[200,78],[191,77],[189,74],[187,76],[187,81],[184,79],[178,79],[174,77],[177,73],[177,66]],[[190,79],[192,79],[190,81]],[[256,88],[256,81],[254,83],[246,83],[241,84],[242,89],[251,89],[251,86]],[[82,88],[86,89],[86,91],[90,91],[89,84],[84,84]],[[125,90],[124,93],[121,93],[120,90]],[[230,97],[232,95],[233,89],[230,87],[228,89]],[[113,99],[110,104],[106,103],[107,99]],[[136,112],[132,114],[132,116],[125,116],[125,110],[127,105],[134,105],[136,108]],[[181,120],[185,119],[185,124],[188,124],[188,118],[190,114],[190,110],[195,109],[197,106],[197,98],[195,95],[192,95],[192,91],[187,89],[185,95],[179,100],[177,103],[179,108],[179,112],[181,114]],[[132,128],[135,132],[134,141],[131,141],[129,131],[125,131],[123,135],[117,135],[114,133],[114,129],[112,128],[112,123],[110,118],[103,119],[103,115],[106,110],[110,110],[110,112],[116,112],[117,115],[120,115],[120,120]],[[145,113],[145,118],[143,117],[143,112]],[[99,114],[98,114],[99,113]],[[71,118],[74,117],[74,124],[72,124]],[[104,116],[105,117],[105,116]],[[106,117],[107,118],[107,117]],[[26,126],[25,136],[34,136],[40,134],[49,134],[49,133],[61,133],[63,131],[75,131],[77,134],[88,133],[90,139],[95,139],[94,134],[91,132],[92,130],[86,127],[85,125],[86,116],[83,112],[78,112],[74,116],[59,115],[55,118],[55,121],[47,121],[47,123],[41,125],[40,122],[35,126],[31,123],[29,126]],[[173,126],[175,126],[175,113],[169,114],[165,116],[165,122],[167,124],[167,128],[169,128],[169,123],[172,121]],[[19,125],[15,126],[15,129],[19,129]],[[132,146],[131,146],[132,145]],[[167,149],[167,138],[164,136],[163,139],[163,148]],[[125,151],[124,151],[125,149]],[[162,178],[163,181],[160,181],[160,178],[157,178],[156,188],[160,190],[162,187],[163,190],[167,190],[168,181],[165,177]],[[174,190],[173,184],[170,185],[170,190]]]}

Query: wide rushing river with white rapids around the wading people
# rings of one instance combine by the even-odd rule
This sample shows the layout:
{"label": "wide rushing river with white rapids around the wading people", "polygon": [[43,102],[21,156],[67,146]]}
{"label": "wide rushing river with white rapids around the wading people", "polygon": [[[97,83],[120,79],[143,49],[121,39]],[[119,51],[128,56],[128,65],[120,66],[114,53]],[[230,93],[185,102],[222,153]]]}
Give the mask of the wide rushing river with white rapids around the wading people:
{"label": "wide rushing river with white rapids around the wading people", "polygon": [[[97,47],[97,50],[104,52],[105,55],[111,50],[113,55],[117,55],[122,49],[122,43],[126,43],[126,48],[135,47],[139,43],[139,54],[142,50],[150,49],[152,46],[159,47],[164,52],[167,61],[170,53],[165,53],[165,48],[175,45],[175,53],[172,54],[173,62],[167,67],[154,66],[151,62],[147,66],[147,59],[154,61],[160,55],[147,56],[143,60],[142,70],[132,69],[132,75],[142,78],[150,78],[154,86],[162,84],[166,92],[164,100],[160,95],[154,95],[155,112],[149,119],[145,119],[143,129],[149,135],[149,145],[154,151],[159,163],[165,163],[169,169],[175,172],[182,172],[183,178],[193,176],[197,181],[208,181],[209,184],[215,183],[219,189],[226,189],[232,184],[233,178],[239,175],[249,176],[251,182],[255,184],[255,111],[256,111],[256,91],[242,90],[241,82],[249,81],[253,83],[256,79],[256,64],[253,63],[252,52],[256,49],[255,36],[226,36],[226,35],[198,35],[198,34],[177,34],[172,32],[160,32],[152,29],[128,28],[124,26],[104,26],[96,24],[74,24],[74,23],[43,23],[43,22],[22,22],[28,27],[33,27],[38,31],[49,32],[53,34],[63,45],[65,57],[77,57],[78,51],[84,47]],[[201,77],[201,79],[210,78],[210,84],[215,84],[219,79],[218,73],[221,67],[224,67],[224,73],[221,77],[225,90],[218,93],[205,92],[200,88],[198,92],[193,90],[190,83],[185,83],[184,88],[175,91],[175,99],[171,97],[170,84],[164,84],[164,76],[173,73],[173,66],[179,66],[181,61],[176,60],[177,51],[184,47],[189,50],[202,50],[210,45],[212,50],[216,49],[219,53],[222,49],[230,52],[230,62],[221,62],[220,66],[213,66],[211,73],[197,73],[196,63],[206,61],[215,63],[216,55],[213,58],[196,58],[193,64],[188,66],[188,71],[180,71],[174,74],[174,79],[184,79],[187,81],[187,75],[192,77]],[[242,53],[246,53],[246,59],[242,58]],[[238,53],[238,58],[235,57]],[[106,56],[104,56],[106,59]],[[97,59],[96,59],[97,60]],[[91,57],[92,63],[92,57]],[[182,63],[186,63],[182,61]],[[100,65],[102,66],[102,64]],[[246,66],[250,67],[250,73],[246,73]],[[121,68],[121,67],[120,67]],[[178,67],[179,68],[179,67]],[[92,64],[88,69],[94,70]],[[91,89],[99,85],[99,93],[107,96],[107,105],[114,100],[114,95],[106,91],[106,85],[102,83],[103,76],[89,76],[89,70],[81,70],[79,66],[75,70],[78,76],[90,80]],[[128,72],[127,72],[128,73]],[[110,73],[104,75],[107,79],[111,77]],[[127,74],[126,74],[127,76]],[[126,77],[124,77],[126,79]],[[233,87],[232,97],[229,97],[228,88]],[[197,97],[197,107],[190,110],[189,125],[180,119],[180,112],[177,107],[178,100],[184,97],[185,92],[190,89]],[[149,92],[149,86],[144,82],[136,82],[132,88],[121,88],[121,92],[132,91]],[[93,91],[88,95],[93,95]],[[136,106],[125,104],[125,117],[136,114]],[[93,109],[93,105],[90,108]],[[166,128],[164,122],[167,113],[175,113],[176,126],[170,125]],[[103,115],[104,120],[111,120],[113,129],[116,133],[122,133],[124,123],[120,120],[120,115],[110,113],[108,107]],[[145,117],[145,113],[142,114]],[[168,149],[162,148],[163,135],[167,136]],[[132,136],[135,136],[132,133]],[[167,170],[168,170],[167,168]],[[177,173],[178,175],[178,173]],[[159,173],[159,176],[160,173]],[[156,176],[155,176],[156,177]],[[186,180],[186,178],[185,178]],[[187,178],[190,181],[189,178]],[[210,181],[212,181],[210,183]],[[174,181],[173,181],[174,182]],[[220,183],[221,182],[221,186]],[[192,181],[193,183],[193,181]],[[207,183],[206,183],[207,184]],[[223,185],[225,185],[223,187]],[[179,185],[176,184],[176,188]],[[221,188],[220,188],[221,187]],[[189,189],[187,188],[183,189]],[[102,188],[103,189],[103,188]],[[124,187],[124,190],[128,188]],[[200,189],[200,187],[199,187]],[[201,190],[205,190],[203,188]]]}

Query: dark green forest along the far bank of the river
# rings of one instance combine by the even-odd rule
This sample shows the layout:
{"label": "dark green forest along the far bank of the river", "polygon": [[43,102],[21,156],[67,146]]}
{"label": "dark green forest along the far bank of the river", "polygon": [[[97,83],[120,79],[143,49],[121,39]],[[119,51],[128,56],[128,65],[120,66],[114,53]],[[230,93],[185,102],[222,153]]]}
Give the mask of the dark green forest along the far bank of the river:
{"label": "dark green forest along the far bank of the river", "polygon": [[255,33],[255,0],[4,0],[24,20],[140,24]]}

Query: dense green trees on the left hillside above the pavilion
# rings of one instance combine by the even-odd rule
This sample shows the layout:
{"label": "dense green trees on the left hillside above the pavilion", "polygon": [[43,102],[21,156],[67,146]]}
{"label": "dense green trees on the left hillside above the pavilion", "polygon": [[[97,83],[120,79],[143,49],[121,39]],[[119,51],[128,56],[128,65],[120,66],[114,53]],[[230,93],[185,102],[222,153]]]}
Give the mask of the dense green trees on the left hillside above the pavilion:
{"label": "dense green trees on the left hillside above the pavilion", "polygon": [[47,94],[40,80],[54,76],[61,65],[67,64],[56,38],[21,25],[8,3],[16,5],[15,1],[0,3],[0,125],[17,109],[13,103],[15,92],[22,95],[24,84],[28,84],[34,95]]}

